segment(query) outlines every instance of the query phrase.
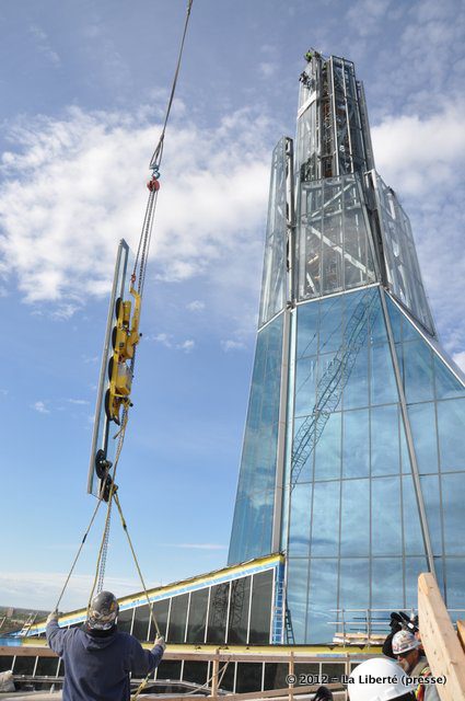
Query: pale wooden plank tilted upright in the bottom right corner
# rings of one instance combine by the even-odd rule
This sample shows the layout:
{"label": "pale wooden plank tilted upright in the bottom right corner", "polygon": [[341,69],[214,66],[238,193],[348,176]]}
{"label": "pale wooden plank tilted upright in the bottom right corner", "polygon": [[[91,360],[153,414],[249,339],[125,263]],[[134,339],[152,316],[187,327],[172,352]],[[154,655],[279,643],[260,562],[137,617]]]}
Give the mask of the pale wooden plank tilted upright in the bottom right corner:
{"label": "pale wooden plank tilted upright in the bottom right corner", "polygon": [[441,701],[465,699],[465,653],[431,573],[418,578],[418,618],[431,673],[445,677],[444,686],[437,686]]}

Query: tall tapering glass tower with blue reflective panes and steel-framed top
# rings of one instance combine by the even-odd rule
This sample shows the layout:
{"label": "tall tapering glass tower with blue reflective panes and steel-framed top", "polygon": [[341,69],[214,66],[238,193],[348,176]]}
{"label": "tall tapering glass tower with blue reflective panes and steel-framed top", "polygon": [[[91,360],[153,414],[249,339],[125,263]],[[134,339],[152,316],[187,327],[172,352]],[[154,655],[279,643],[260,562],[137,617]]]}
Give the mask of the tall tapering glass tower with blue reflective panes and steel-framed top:
{"label": "tall tapering glass tower with blue reflective panes and steel-framed top", "polygon": [[[465,579],[465,381],[438,342],[407,215],[374,168],[353,64],[316,51],[271,164],[229,563],[282,551],[295,643]],[[357,618],[357,613],[354,613]]]}

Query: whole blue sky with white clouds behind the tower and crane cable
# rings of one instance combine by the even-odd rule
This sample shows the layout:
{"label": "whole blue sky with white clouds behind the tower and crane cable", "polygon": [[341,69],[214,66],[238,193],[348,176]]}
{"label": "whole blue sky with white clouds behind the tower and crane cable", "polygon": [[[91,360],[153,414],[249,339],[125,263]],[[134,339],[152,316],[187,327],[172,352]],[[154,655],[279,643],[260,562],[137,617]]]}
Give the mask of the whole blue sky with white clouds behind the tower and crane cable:
{"label": "whole blue sky with white clouds behind the tower and crane cable", "polygon": [[[136,244],[184,0],[0,7],[0,604],[54,606],[85,493],[116,246]],[[194,0],[166,135],[120,499],[147,582],[225,564],[271,149],[310,46],[356,61],[376,166],[410,216],[441,338],[465,367],[464,7]],[[62,608],[85,604],[95,528]],[[107,586],[138,589],[116,518]]]}

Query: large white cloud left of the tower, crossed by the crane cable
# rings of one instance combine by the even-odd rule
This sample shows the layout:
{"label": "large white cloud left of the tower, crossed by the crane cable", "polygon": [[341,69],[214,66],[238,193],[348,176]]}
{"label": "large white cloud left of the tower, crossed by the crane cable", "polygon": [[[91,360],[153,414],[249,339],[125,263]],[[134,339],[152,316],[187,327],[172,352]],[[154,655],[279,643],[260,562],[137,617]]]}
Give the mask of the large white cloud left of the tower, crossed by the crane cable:
{"label": "large white cloud left of the tower, crossed by the crane cable", "polygon": [[[69,318],[79,300],[106,295],[117,241],[137,244],[156,129],[147,108],[16,123],[3,153],[0,253],[28,302],[54,301]],[[269,123],[249,111],[216,129],[173,125],[166,139],[154,226],[158,275],[206,274],[246,256],[266,216]],[[135,232],[128,235],[128,232]],[[241,250],[242,249],[242,250]]]}

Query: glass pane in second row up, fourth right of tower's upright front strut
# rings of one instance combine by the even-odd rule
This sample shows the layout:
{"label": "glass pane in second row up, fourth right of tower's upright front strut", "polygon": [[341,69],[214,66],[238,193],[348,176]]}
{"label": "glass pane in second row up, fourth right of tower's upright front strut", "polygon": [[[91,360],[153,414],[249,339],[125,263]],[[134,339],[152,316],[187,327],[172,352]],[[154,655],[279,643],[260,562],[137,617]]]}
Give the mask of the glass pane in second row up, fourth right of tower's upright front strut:
{"label": "glass pane in second row up, fourth right of tower's upright front strut", "polygon": [[372,480],[371,508],[372,554],[400,555],[400,478]]}

